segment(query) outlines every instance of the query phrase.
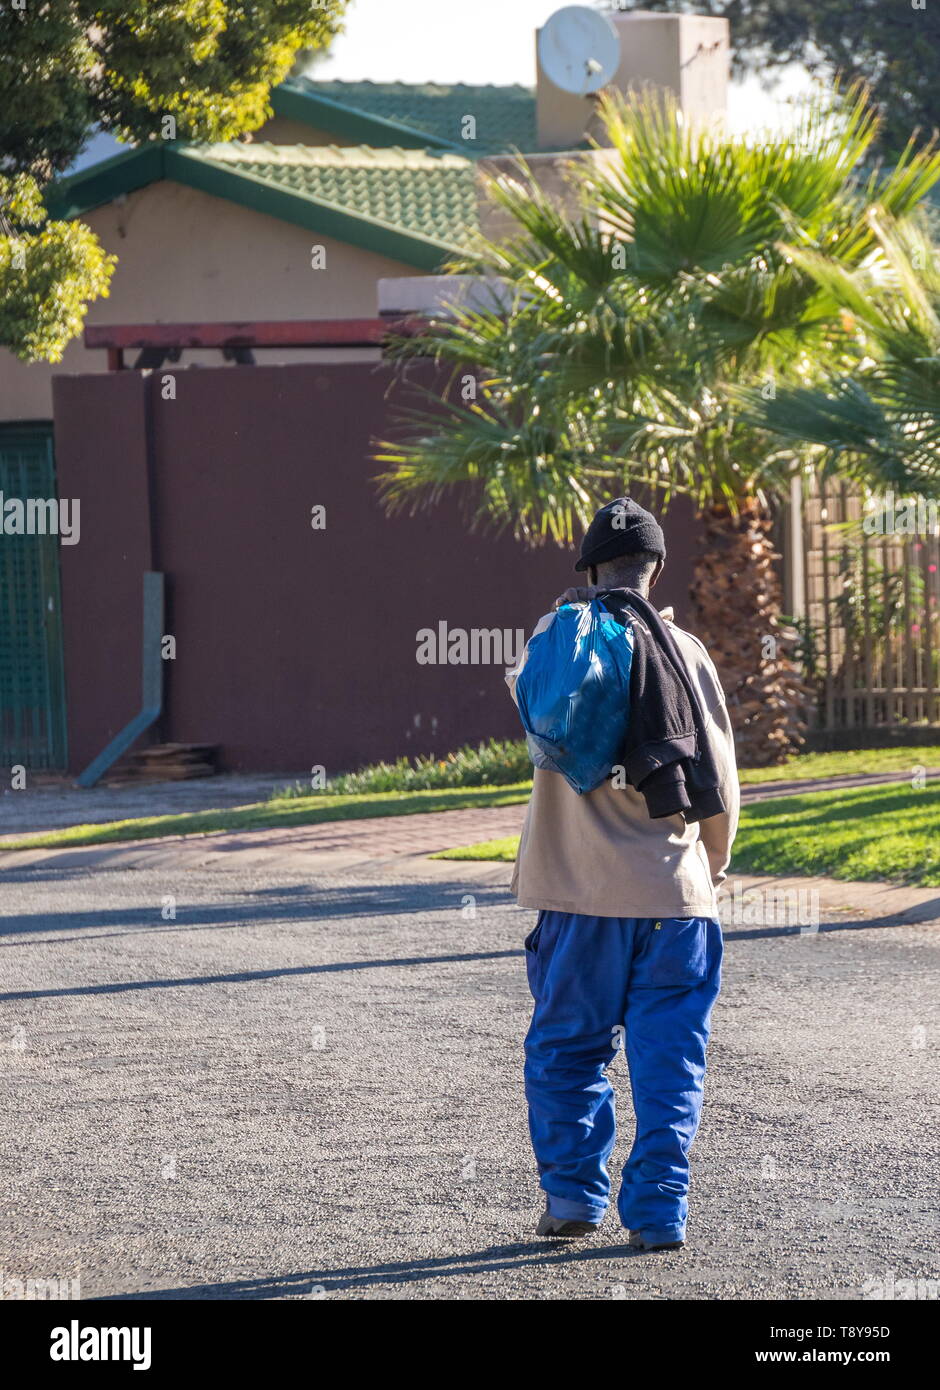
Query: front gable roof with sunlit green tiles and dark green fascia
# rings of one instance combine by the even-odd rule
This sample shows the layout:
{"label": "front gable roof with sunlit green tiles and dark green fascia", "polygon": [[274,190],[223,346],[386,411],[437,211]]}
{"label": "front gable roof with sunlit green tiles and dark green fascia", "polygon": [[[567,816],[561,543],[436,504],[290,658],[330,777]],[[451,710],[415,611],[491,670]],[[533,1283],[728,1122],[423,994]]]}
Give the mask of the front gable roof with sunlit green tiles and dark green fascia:
{"label": "front gable roof with sunlit green tiles and dark green fascia", "polygon": [[51,185],[54,217],[79,217],[172,179],[321,235],[437,270],[478,225],[473,160],[446,150],[152,140]]}

